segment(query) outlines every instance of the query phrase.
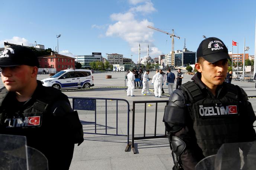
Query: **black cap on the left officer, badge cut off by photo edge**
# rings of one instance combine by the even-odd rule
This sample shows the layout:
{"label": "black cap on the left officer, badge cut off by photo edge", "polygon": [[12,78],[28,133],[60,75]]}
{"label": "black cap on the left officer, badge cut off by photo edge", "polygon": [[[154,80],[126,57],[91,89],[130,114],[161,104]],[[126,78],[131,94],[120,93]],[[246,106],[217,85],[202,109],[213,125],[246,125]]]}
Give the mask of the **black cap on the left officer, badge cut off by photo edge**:
{"label": "black cap on the left officer, badge cut off by photo edge", "polygon": [[0,55],[0,67],[19,65],[39,67],[38,58],[33,50],[19,45],[4,49],[3,53]]}

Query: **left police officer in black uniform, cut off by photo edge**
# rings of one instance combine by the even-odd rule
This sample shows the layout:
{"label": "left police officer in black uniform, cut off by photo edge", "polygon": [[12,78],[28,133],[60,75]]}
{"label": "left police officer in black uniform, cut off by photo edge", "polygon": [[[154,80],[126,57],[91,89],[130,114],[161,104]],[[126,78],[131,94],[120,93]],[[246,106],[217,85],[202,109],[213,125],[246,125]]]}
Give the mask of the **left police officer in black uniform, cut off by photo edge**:
{"label": "left police officer in black uniform, cut off by photo edge", "polygon": [[0,134],[23,135],[27,145],[41,151],[51,170],[68,170],[74,144],[83,130],[66,95],[36,80],[39,62],[23,46],[6,48],[0,56]]}

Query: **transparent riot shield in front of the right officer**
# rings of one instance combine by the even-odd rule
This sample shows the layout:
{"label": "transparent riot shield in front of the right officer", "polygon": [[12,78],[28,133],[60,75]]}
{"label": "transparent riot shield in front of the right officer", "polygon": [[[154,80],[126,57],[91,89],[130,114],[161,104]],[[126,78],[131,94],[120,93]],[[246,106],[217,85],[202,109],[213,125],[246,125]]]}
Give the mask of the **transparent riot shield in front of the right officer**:
{"label": "transparent riot shield in front of the right officer", "polygon": [[216,155],[199,161],[195,170],[255,170],[256,142],[223,144]]}

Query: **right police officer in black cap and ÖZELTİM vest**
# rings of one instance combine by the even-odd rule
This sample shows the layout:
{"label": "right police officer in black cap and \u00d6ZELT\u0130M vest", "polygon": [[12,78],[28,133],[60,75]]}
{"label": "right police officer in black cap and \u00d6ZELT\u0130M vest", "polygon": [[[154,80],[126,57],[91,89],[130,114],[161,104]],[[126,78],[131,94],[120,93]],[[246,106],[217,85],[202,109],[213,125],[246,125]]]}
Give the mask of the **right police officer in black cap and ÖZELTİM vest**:
{"label": "right police officer in black cap and \u00d6ZELT\u0130M vest", "polygon": [[198,72],[176,89],[164,112],[175,166],[192,170],[223,143],[255,140],[252,105],[243,89],[224,82],[227,60],[224,43],[215,37],[201,42],[196,52]]}

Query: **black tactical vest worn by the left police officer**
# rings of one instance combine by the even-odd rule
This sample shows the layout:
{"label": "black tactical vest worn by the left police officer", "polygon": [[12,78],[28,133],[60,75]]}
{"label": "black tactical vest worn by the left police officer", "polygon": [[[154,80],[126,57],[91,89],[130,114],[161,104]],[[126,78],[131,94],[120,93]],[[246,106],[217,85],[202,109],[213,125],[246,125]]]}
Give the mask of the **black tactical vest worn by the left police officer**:
{"label": "black tactical vest worn by the left police officer", "polygon": [[[52,90],[51,88],[44,90],[41,88],[42,96],[30,98],[25,104],[17,111],[10,115],[8,108],[0,107],[0,127],[1,133],[6,134],[20,134],[27,135],[31,133],[42,133],[41,127],[48,128],[49,123],[54,119],[53,114],[48,114],[48,107],[53,104],[57,99],[63,98],[61,92]],[[0,91],[0,105],[8,94],[6,88]],[[49,97],[51,96],[51,97]],[[8,101],[11,102],[11,101]],[[13,106],[15,107],[15,106]],[[36,129],[35,129],[36,128]]]}

